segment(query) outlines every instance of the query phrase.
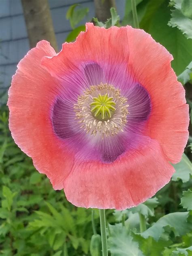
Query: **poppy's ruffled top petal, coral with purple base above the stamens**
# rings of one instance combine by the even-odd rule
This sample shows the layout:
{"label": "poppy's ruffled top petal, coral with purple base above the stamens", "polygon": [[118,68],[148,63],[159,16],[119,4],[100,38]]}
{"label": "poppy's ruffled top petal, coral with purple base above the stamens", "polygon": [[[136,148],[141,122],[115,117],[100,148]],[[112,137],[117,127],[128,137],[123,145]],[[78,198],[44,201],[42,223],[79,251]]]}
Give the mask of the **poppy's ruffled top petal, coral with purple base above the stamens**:
{"label": "poppy's ruffled top petal, coral with purple base above the stamens", "polygon": [[[95,27],[93,23],[87,23],[86,28],[75,43],[64,43],[58,55],[43,58],[42,64],[61,80],[69,73],[75,74],[78,86],[82,88],[100,82],[119,85],[122,73],[123,77],[126,76],[129,59],[128,44],[125,44],[128,41],[127,29],[113,27],[106,30]],[[119,71],[122,73],[118,75]]]}

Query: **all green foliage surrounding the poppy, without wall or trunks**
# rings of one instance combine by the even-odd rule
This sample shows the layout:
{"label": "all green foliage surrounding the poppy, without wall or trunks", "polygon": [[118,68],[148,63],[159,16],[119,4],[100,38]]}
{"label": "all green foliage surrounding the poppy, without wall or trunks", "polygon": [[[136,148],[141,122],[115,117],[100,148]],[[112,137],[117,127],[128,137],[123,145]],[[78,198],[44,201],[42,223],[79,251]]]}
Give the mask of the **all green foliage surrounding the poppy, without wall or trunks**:
{"label": "all green foliage surrounding the poppy, without wall or trunks", "polygon": [[[192,120],[192,8],[188,0],[137,0],[140,28],[164,45],[174,57],[172,66],[186,89]],[[191,6],[192,7],[192,6]],[[85,26],[79,22],[89,9],[73,5],[66,19],[73,31],[64,41],[74,41]],[[98,26],[133,26],[130,0],[123,20],[115,10]],[[99,256],[98,210],[77,208],[63,191],[54,191],[15,145],[8,128],[8,110],[0,109],[0,255]],[[191,123],[190,123],[191,132]],[[125,211],[107,210],[111,256],[192,255],[192,137],[176,164],[172,180],[156,196]],[[94,213],[94,214],[93,214]],[[140,227],[145,218],[146,230]],[[92,242],[91,242],[92,241]],[[91,250],[90,250],[91,246]]]}

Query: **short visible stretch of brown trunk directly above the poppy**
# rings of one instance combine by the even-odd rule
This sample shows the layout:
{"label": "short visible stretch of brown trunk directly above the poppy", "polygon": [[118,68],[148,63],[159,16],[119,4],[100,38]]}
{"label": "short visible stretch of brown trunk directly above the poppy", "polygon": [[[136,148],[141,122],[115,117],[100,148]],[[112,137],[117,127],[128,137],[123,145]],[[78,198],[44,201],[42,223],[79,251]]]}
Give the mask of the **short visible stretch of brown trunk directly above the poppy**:
{"label": "short visible stretch of brown trunk directly above the poppy", "polygon": [[116,9],[115,0],[94,0],[95,15],[99,21],[105,22],[111,17],[110,8]]}

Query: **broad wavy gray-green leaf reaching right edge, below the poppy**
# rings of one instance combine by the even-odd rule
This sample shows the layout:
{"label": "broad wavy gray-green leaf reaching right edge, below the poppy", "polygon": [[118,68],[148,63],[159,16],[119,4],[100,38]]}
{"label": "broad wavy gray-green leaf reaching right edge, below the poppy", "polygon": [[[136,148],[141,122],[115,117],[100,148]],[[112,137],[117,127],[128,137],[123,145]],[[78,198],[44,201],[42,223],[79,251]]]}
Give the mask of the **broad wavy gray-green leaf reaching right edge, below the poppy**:
{"label": "broad wavy gray-green leaf reaching right edge, below the poppy", "polygon": [[164,228],[169,226],[175,233],[175,236],[184,235],[192,230],[192,224],[188,223],[188,212],[174,212],[169,213],[160,218],[153,226],[141,233],[144,238],[153,237],[158,241],[164,233]]}

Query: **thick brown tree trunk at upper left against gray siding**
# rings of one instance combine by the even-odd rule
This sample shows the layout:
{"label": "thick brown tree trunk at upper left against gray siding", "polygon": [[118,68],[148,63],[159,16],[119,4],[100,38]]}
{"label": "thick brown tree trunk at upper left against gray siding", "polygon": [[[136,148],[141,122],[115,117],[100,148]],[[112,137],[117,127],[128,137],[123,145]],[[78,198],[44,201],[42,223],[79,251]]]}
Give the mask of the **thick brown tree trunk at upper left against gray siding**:
{"label": "thick brown tree trunk at upper left against gray siding", "polygon": [[45,39],[58,51],[48,0],[21,0],[30,47]]}

